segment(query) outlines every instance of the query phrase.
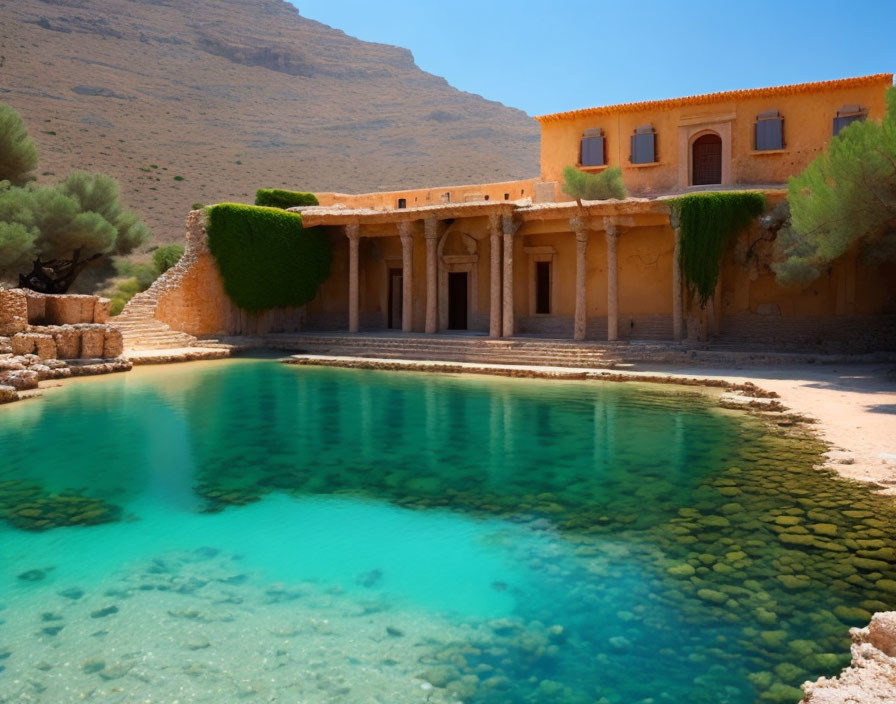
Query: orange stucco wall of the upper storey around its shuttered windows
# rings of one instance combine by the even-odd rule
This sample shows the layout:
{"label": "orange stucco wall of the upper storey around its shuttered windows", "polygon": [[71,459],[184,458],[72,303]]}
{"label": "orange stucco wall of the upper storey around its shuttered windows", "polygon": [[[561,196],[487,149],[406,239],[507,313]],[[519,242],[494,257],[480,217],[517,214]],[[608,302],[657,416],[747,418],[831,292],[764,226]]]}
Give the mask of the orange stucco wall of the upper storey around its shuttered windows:
{"label": "orange stucco wall of the upper storey around its shuttered windows", "polygon": [[[791,92],[783,89],[739,91],[730,97],[716,94],[539,118],[542,122],[541,178],[561,182],[563,168],[579,163],[584,131],[599,127],[605,137],[608,165],[622,169],[625,184],[633,194],[686,190],[690,185],[690,144],[707,131],[722,137],[723,163],[727,154],[730,164],[728,185],[783,184],[825,148],[831,139],[838,109],[857,104],[867,109],[868,119],[879,120],[883,116],[884,94],[892,85],[892,76],[884,74],[862,80],[807,84]],[[777,110],[784,118],[785,146],[780,151],[754,150],[756,116],[766,110]],[[633,165],[630,138],[636,127],[645,124],[656,130],[658,161],[651,165]],[[724,178],[725,174],[723,183]],[[568,200],[559,187],[555,196],[557,200]]]}

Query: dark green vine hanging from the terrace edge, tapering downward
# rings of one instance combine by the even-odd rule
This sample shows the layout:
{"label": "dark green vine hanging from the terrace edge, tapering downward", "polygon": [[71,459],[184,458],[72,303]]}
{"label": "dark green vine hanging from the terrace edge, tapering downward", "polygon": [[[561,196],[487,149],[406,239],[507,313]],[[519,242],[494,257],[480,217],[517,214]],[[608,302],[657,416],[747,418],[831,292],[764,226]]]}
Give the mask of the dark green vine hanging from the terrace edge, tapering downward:
{"label": "dark green vine hanging from the terrace edge, tapering downward", "polygon": [[692,295],[706,305],[719,280],[731,239],[765,209],[765,196],[749,192],[693,193],[670,201],[681,227],[681,272]]}

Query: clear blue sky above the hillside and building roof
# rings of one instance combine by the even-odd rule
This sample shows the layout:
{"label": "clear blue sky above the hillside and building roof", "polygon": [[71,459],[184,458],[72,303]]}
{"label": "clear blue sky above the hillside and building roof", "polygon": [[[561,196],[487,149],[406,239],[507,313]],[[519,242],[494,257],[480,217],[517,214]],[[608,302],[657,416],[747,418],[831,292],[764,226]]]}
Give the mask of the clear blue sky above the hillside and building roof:
{"label": "clear blue sky above the hillside and building roof", "polygon": [[896,70],[896,0],[291,0],[531,115]]}

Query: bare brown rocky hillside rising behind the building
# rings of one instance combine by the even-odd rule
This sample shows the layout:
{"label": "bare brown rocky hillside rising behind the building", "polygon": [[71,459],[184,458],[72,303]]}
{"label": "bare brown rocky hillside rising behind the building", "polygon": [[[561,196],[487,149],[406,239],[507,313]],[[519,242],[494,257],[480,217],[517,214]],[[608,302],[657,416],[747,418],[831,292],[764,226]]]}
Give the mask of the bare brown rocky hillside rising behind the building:
{"label": "bare brown rocky hillside rising behind the building", "polygon": [[0,101],[28,122],[41,180],[112,174],[159,242],[182,238],[194,202],[247,202],[262,186],[538,172],[525,113],[282,0],[0,0]]}

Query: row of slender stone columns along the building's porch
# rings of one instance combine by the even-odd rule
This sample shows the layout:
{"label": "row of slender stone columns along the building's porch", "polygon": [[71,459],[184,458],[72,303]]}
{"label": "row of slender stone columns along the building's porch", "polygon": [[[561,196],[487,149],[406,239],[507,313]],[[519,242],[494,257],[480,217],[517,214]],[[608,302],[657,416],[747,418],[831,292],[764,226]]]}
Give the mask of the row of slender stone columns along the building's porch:
{"label": "row of slender stone columns along the building's porch", "polygon": [[[515,334],[514,315],[514,238],[521,222],[513,215],[489,216],[489,336],[493,338],[513,337]],[[438,331],[438,245],[444,231],[442,221],[427,218],[423,221],[426,242],[426,323],[425,331]],[[592,234],[590,221],[575,216],[569,219],[569,226],[576,238],[575,276],[575,318],[573,339],[584,340],[587,336],[587,252]],[[607,243],[607,339],[619,337],[619,226],[611,217],[602,221],[604,238]],[[672,221],[674,248],[672,256],[672,334],[680,340],[683,331],[683,303],[681,287],[681,230]],[[359,223],[345,225],[349,242],[348,277],[348,329],[359,330],[360,288],[359,288],[359,244],[361,238]],[[402,261],[402,316],[403,332],[413,330],[413,222],[402,220],[398,223],[401,240]]]}

